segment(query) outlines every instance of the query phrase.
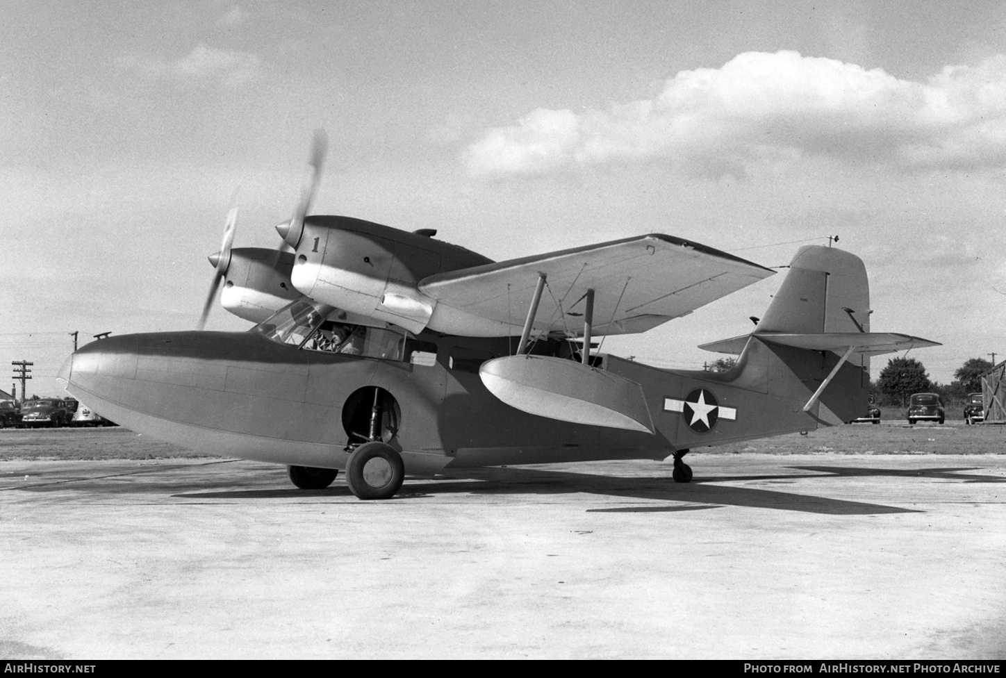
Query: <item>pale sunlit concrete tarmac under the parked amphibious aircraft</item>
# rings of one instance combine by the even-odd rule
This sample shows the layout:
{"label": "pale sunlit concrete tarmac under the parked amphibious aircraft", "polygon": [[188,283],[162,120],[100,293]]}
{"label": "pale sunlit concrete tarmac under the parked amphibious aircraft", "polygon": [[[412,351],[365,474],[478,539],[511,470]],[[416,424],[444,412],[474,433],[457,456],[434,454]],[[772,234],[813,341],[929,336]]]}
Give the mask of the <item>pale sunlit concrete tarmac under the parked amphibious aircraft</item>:
{"label": "pale sunlit concrete tarmac under the parked amphibious aircraft", "polygon": [[0,657],[1006,658],[1006,456],[0,462]]}

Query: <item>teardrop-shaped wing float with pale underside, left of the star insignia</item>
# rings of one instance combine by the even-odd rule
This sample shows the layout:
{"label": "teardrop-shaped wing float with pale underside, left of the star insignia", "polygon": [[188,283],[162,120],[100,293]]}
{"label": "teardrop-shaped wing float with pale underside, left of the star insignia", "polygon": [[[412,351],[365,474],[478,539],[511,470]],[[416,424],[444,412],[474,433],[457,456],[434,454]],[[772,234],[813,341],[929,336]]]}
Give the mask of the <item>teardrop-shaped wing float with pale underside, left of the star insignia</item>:
{"label": "teardrop-shaped wing float with pale underside, left of the star insignia", "polygon": [[643,388],[605,370],[563,358],[516,355],[483,363],[479,375],[493,395],[529,414],[653,433]]}

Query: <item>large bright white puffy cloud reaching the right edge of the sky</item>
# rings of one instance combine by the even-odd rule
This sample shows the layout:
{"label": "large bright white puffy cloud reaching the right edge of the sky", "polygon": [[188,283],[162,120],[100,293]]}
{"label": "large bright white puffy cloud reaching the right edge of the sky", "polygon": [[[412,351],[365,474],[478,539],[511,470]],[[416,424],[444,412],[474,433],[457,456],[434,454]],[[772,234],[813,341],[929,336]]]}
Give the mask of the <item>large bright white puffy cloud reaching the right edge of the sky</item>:
{"label": "large bright white puffy cloud reaching the right edge of the sky", "polygon": [[534,174],[665,159],[705,174],[838,157],[911,170],[1006,160],[1006,56],[927,82],[794,51],[683,70],[652,100],[538,109],[464,154],[474,174]]}

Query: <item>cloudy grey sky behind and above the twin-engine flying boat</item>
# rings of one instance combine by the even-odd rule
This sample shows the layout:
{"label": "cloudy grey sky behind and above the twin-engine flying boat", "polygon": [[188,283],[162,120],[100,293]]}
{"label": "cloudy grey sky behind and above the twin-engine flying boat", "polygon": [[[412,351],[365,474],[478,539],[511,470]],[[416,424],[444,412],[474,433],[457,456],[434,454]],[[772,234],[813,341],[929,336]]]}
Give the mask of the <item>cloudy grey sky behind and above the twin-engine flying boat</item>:
{"label": "cloudy grey sky behind and above the twin-engine flying boat", "polygon": [[[661,232],[772,267],[837,234],[873,329],[945,344],[932,378],[1006,358],[999,0],[0,7],[0,365],[29,392],[70,332],[193,328],[235,189],[235,246],[278,244],[319,127],[317,213],[495,260]],[[781,279],[604,350],[701,368]]]}

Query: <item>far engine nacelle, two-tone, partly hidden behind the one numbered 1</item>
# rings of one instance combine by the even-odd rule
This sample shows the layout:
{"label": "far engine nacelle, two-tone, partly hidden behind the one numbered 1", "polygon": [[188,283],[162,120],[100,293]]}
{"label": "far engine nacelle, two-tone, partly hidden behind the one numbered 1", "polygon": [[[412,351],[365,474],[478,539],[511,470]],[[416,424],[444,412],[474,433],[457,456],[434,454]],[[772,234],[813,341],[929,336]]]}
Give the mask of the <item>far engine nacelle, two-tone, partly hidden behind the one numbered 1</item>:
{"label": "far engine nacelle, two-tone, partly hidden behind the one numbered 1", "polygon": [[263,247],[230,250],[220,306],[238,318],[261,323],[303,295],[290,280],[294,255]]}

